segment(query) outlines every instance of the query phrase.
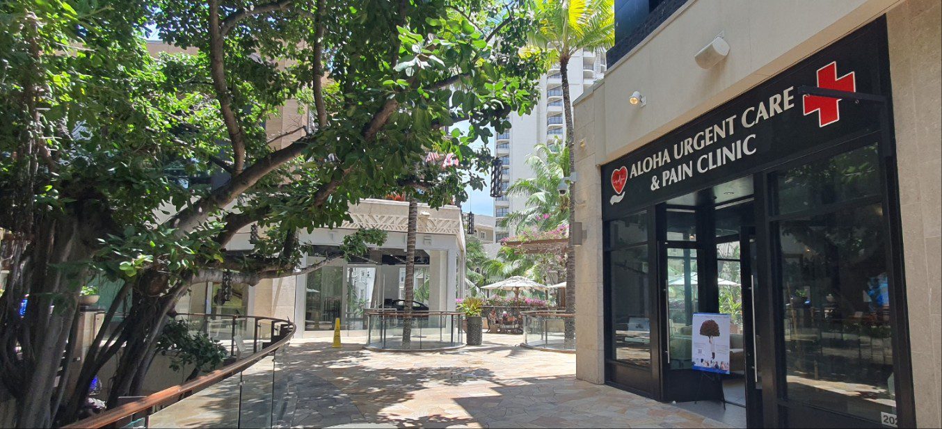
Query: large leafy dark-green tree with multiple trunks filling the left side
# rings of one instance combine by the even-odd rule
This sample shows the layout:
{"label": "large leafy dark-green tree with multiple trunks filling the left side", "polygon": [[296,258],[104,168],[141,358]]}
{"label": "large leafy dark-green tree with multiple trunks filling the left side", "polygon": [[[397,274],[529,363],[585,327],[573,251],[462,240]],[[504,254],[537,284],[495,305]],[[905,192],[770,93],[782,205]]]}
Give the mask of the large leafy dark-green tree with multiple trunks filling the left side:
{"label": "large leafy dark-green tree with multiple trunks filling the left side", "polygon": [[[391,189],[420,188],[433,207],[465,199],[464,183],[482,185],[467,172],[491,159],[470,143],[526,113],[539,74],[517,52],[531,24],[519,2],[96,5],[0,6],[0,228],[12,256],[0,378],[22,427],[74,421],[110,359],[108,405],[137,394],[191,284],[254,285],[362,253],[382,233],[360,231],[302,266],[314,249],[299,231],[338,226],[349,204]],[[149,56],[140,35],[152,27],[196,53]],[[291,100],[312,123],[268,135],[266,119]],[[445,132],[459,120],[466,131]],[[407,167],[428,151],[460,167]],[[252,250],[227,249],[252,224]],[[123,281],[103,326],[120,302],[130,308],[91,343],[77,381],[57,386],[91,275]]]}

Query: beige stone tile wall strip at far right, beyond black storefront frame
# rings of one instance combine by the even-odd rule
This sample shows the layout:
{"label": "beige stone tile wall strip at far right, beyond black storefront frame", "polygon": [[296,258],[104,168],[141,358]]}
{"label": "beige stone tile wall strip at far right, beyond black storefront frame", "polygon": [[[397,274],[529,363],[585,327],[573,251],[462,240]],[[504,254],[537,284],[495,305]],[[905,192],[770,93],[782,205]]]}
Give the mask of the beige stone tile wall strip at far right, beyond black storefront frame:
{"label": "beige stone tile wall strip at far right, beyond black storefront frame", "polygon": [[942,3],[886,14],[902,246],[919,427],[942,427]]}

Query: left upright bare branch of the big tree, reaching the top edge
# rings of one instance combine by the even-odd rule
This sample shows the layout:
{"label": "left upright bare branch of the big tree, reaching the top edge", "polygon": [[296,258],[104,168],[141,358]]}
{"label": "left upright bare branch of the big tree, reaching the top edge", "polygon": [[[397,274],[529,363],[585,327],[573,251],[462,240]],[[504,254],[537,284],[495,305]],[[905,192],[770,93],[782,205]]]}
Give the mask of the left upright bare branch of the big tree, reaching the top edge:
{"label": "left upright bare branch of the big tree, reaching the top edge", "polygon": [[235,118],[232,93],[226,85],[224,50],[225,40],[219,27],[219,0],[209,0],[209,74],[213,78],[216,99],[219,100],[219,113],[222,114],[233,147],[233,170],[238,174],[245,167],[245,133]]}

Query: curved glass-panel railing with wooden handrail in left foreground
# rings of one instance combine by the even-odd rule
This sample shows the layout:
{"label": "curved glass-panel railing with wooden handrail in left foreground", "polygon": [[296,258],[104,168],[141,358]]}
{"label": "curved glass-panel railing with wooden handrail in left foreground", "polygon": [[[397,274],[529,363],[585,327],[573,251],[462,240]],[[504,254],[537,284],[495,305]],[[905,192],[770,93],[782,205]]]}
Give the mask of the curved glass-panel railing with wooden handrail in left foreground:
{"label": "curved glass-panel railing with wooden handrail in left foreground", "polygon": [[235,362],[63,427],[168,427],[207,409],[213,412],[201,417],[202,426],[273,427],[282,423],[285,414],[290,413],[287,380],[280,370],[284,346],[295,332],[293,323],[271,317],[218,314],[181,313],[174,317],[184,318],[191,327],[198,326],[191,330],[228,345]]}

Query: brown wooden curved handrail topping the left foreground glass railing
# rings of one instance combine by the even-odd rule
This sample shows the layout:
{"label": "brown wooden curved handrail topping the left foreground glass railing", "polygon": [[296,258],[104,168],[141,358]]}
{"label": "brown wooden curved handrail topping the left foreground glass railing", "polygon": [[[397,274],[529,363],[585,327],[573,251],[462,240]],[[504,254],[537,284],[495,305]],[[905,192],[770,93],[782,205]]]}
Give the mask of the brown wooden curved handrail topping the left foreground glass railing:
{"label": "brown wooden curved handrail topping the left foreground glass railing", "polygon": [[[180,313],[179,315],[184,315]],[[186,315],[200,315],[200,316],[219,316],[219,314],[199,314],[199,313],[186,313]],[[253,353],[250,357],[247,357],[242,360],[238,360],[234,363],[226,365],[219,370],[213,371],[212,373],[207,373],[201,377],[190,380],[187,383],[182,385],[171,386],[170,388],[160,390],[158,392],[152,393],[145,396],[144,398],[138,399],[137,401],[130,402],[124,405],[119,405],[114,408],[108,409],[101,414],[96,414],[88,419],[83,419],[80,421],[75,421],[71,424],[62,426],[62,428],[68,429],[77,429],[77,428],[100,428],[105,427],[108,424],[111,424],[115,421],[120,421],[124,418],[131,417],[139,412],[146,411],[153,406],[162,405],[171,400],[177,399],[180,395],[187,393],[194,393],[196,391],[208,388],[219,381],[235,374],[239,373],[252,365],[254,365],[259,360],[262,360],[265,357],[268,357],[271,352],[278,350],[284,344],[289,342],[294,336],[295,326],[294,323],[284,319],[276,319],[274,317],[264,317],[264,316],[235,316],[244,319],[255,319],[255,320],[268,320],[272,323],[284,323],[288,326],[291,326],[290,332],[288,335],[284,336],[281,340],[277,342],[272,342],[268,347],[259,350],[257,353]]]}

